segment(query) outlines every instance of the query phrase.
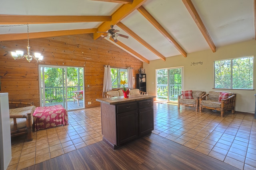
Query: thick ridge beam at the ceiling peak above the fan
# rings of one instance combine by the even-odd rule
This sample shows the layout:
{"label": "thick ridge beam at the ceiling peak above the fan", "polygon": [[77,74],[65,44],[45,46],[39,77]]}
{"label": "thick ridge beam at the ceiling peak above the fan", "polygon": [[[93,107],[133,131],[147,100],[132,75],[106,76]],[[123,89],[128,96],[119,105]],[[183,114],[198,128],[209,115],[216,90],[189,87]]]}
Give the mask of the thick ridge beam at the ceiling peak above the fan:
{"label": "thick ridge beam at the ceiling peak above the fan", "polygon": [[[124,19],[126,16],[131,14],[134,10],[142,6],[147,0],[133,0],[132,4],[124,4],[122,5],[114,14],[112,14],[112,20],[106,21],[102,23],[98,27],[98,31],[100,32],[106,32],[108,29],[110,29],[110,25],[116,25],[119,21]],[[103,33],[94,33],[93,39],[99,38]]]}

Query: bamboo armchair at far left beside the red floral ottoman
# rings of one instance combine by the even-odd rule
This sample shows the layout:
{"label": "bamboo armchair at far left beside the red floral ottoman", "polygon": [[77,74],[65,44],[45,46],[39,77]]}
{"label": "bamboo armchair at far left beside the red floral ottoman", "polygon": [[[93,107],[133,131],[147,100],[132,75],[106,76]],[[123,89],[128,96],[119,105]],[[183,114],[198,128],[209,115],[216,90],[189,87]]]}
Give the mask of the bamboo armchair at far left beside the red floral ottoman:
{"label": "bamboo armchair at far left beside the red floral ottoman", "polygon": [[33,113],[36,106],[33,102],[9,102],[10,108],[10,127],[11,137],[27,135],[27,141],[33,140],[32,124],[34,121]]}

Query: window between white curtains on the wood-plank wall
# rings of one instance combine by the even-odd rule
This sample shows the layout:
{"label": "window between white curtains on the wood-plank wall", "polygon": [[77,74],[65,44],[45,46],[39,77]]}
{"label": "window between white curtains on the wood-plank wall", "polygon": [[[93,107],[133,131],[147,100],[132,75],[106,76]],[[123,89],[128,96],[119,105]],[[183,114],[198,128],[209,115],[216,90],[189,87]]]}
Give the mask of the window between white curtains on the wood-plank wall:
{"label": "window between white curtains on the wood-plank wall", "polygon": [[[127,69],[126,68],[111,68],[111,82],[112,88],[122,88],[120,80],[127,82]],[[128,84],[126,84],[128,87]]]}

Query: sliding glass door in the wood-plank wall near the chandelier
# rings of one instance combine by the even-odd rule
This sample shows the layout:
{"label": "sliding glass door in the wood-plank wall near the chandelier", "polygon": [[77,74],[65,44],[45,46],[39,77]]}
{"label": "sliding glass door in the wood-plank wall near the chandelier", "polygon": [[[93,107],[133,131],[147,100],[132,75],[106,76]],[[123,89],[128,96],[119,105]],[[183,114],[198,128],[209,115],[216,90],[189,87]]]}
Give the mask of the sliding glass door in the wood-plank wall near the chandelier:
{"label": "sliding glass door in the wood-plank wall near the chandelier", "polygon": [[39,65],[40,106],[84,108],[84,68]]}

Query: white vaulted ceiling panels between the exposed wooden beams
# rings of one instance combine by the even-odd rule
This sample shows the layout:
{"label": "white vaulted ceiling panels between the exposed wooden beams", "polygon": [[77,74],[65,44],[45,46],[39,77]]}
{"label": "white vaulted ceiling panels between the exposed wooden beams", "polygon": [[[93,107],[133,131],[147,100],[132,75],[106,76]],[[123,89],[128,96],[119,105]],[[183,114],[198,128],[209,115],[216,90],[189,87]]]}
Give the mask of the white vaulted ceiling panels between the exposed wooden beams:
{"label": "white vaulted ceiling panels between the exposed wooden beams", "polygon": [[[191,1],[216,50],[224,45],[255,39],[255,0]],[[111,16],[122,5],[94,0],[2,0],[0,15]],[[142,6],[187,54],[211,49],[182,0],[147,0]],[[181,54],[138,10],[131,12],[121,22],[164,57]],[[97,29],[101,24],[102,22],[29,24],[29,32]],[[1,34],[27,32],[26,25],[6,27],[7,25],[0,21],[0,37]],[[121,34],[129,35],[117,25],[114,25],[114,29],[120,30]],[[118,41],[149,61],[160,59],[130,35],[128,39],[118,37]],[[136,55],[134,57],[138,58]]]}

